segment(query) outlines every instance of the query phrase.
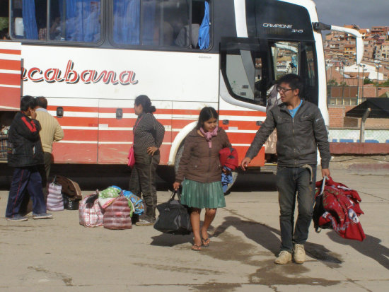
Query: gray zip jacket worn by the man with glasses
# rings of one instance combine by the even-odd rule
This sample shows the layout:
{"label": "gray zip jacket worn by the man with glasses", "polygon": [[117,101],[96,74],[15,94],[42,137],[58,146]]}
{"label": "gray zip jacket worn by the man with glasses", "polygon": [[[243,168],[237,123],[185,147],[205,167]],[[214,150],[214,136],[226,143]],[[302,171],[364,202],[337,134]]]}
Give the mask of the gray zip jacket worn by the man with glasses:
{"label": "gray zip jacket worn by the man with glasses", "polygon": [[272,107],[265,123],[255,134],[246,157],[254,158],[260,148],[277,129],[278,165],[283,167],[301,167],[306,164],[317,164],[317,148],[320,151],[322,168],[330,165],[330,144],[327,129],[319,108],[303,100],[296,115],[292,118],[284,103]]}

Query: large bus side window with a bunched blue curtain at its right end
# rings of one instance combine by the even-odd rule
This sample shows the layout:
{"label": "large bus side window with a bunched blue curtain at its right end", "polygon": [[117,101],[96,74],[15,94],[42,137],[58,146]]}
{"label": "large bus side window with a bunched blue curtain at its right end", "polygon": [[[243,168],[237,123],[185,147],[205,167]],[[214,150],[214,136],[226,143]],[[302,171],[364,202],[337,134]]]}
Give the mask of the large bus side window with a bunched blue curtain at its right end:
{"label": "large bus side window with a bunched blue curtain at its right end", "polygon": [[[112,41],[117,45],[209,47],[207,1],[116,0],[112,13]],[[205,23],[203,29],[202,23]],[[199,31],[203,30],[206,33],[202,34],[201,42],[206,39],[207,43],[200,45]]]}

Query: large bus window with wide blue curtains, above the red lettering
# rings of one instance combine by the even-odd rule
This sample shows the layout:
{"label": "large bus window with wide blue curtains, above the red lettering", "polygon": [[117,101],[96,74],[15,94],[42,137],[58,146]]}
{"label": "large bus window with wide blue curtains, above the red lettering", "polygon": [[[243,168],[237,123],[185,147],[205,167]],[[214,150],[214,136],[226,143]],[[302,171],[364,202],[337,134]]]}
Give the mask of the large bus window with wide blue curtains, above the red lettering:
{"label": "large bus window with wide blue curtains, above the red lettering", "polygon": [[[47,11],[48,1],[50,11]],[[100,0],[13,0],[11,36],[25,40],[98,42],[101,35],[100,4]]]}

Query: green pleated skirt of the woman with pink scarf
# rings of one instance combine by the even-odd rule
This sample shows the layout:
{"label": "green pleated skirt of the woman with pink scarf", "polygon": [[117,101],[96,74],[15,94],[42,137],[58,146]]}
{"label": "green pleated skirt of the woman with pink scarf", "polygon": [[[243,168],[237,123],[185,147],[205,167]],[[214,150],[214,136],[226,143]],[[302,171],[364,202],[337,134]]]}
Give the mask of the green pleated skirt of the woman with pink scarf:
{"label": "green pleated skirt of the woman with pink scarf", "polygon": [[181,204],[198,209],[214,209],[226,206],[221,182],[182,182]]}

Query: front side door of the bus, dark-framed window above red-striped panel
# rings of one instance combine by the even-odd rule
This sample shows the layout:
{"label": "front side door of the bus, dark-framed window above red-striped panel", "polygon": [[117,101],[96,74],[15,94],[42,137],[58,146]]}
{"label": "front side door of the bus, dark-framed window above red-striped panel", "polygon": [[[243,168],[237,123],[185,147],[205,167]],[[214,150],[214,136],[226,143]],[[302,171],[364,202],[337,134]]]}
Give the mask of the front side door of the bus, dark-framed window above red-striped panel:
{"label": "front side door of the bus, dark-framed window above red-striped panel", "polygon": [[[221,90],[223,101],[238,105],[241,111],[238,120],[233,120],[234,111],[221,111],[221,127],[226,130],[239,157],[245,157],[255,132],[265,119],[267,57],[261,51],[260,40],[248,37],[223,37],[221,39]],[[228,107],[228,105],[223,105]],[[258,112],[259,111],[259,112]],[[228,124],[227,124],[228,123]],[[264,164],[263,150],[250,165]]]}

